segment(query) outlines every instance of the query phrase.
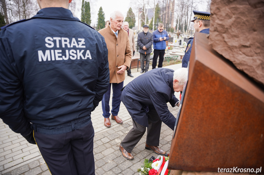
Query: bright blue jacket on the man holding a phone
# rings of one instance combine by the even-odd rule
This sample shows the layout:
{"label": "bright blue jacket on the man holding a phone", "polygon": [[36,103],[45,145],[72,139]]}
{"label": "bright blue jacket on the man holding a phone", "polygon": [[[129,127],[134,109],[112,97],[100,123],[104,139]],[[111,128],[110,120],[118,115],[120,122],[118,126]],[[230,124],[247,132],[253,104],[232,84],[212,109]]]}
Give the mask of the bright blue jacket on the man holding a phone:
{"label": "bright blue jacket on the man holding a phone", "polygon": [[[166,40],[162,40],[160,41],[159,38],[162,37],[166,37]],[[158,30],[155,30],[153,32],[153,48],[155,50],[165,50],[167,45],[166,45],[166,41],[169,40],[169,36],[168,33],[163,30],[162,32],[159,32]]]}

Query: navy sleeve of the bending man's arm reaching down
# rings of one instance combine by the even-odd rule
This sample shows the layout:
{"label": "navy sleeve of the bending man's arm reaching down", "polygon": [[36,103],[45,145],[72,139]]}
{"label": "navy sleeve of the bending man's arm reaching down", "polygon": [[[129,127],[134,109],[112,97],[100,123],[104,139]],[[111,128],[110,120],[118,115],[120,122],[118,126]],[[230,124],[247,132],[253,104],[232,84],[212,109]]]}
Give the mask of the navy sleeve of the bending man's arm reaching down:
{"label": "navy sleeve of the bending man's arm reaching down", "polygon": [[150,99],[160,117],[160,120],[172,130],[174,129],[176,118],[169,112],[165,99],[169,99],[168,94],[164,92],[154,92],[150,95]]}

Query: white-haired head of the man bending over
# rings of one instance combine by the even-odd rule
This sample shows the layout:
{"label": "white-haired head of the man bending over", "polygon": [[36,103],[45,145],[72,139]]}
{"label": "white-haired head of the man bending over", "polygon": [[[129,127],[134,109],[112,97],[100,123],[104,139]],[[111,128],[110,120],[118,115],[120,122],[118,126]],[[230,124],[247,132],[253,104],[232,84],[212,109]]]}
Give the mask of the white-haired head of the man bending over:
{"label": "white-haired head of the man bending over", "polygon": [[173,90],[175,92],[180,92],[183,90],[184,82],[187,81],[188,69],[179,68],[173,73]]}

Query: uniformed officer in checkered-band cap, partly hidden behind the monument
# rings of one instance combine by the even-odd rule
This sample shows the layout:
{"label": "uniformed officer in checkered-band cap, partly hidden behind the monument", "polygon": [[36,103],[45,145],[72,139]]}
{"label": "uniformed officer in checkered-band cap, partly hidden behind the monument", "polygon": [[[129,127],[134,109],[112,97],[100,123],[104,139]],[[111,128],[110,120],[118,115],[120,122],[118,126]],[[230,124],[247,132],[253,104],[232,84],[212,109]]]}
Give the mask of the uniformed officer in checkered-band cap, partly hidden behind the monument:
{"label": "uniformed officer in checkered-band cap, partly hidden behind the monument", "polygon": [[[195,32],[209,34],[210,13],[199,12],[199,11],[195,11],[195,10],[193,11],[193,13],[194,13],[194,17],[193,17],[194,19],[191,20],[191,22],[194,23],[193,26],[194,26]],[[187,47],[185,50],[184,57],[182,58],[182,67],[183,68],[187,68],[188,62],[190,60],[193,37],[188,38],[189,41],[187,43]]]}

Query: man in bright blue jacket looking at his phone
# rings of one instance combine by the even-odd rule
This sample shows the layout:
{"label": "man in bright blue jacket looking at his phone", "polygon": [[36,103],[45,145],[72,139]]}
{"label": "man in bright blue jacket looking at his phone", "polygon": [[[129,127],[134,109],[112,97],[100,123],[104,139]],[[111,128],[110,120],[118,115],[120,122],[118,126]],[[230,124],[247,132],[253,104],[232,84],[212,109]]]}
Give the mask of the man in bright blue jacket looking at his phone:
{"label": "man in bright blue jacket looking at his phone", "polygon": [[164,30],[164,25],[159,23],[158,30],[153,32],[154,56],[152,60],[152,69],[156,68],[158,57],[158,68],[162,68],[167,40],[169,40],[168,33]]}

